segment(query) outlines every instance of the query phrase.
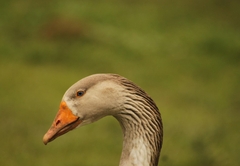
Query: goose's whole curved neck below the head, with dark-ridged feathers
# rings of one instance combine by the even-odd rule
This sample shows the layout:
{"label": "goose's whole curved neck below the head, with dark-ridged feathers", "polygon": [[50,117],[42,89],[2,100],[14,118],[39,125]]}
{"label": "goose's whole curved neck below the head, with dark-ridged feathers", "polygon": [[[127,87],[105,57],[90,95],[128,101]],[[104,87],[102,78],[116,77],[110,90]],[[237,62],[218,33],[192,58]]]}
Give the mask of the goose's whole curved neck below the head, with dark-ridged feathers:
{"label": "goose's whole curved neck below the head, with dark-ridged feathers", "polygon": [[154,101],[138,86],[121,78],[126,100],[116,119],[124,143],[120,166],[157,166],[163,140],[160,112]]}

